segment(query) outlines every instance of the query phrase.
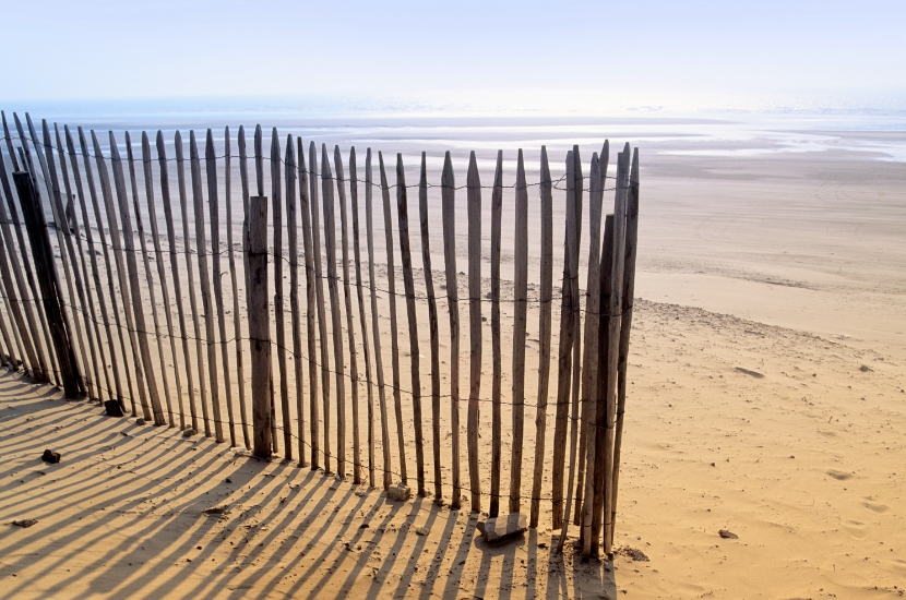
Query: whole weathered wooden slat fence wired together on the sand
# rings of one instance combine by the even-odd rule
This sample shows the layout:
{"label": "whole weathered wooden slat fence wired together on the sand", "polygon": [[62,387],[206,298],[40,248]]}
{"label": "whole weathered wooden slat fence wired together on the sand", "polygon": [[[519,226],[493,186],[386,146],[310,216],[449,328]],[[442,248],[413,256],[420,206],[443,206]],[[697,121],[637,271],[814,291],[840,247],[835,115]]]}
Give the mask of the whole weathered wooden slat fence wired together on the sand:
{"label": "whole weathered wooden slat fence wired together on the sand", "polygon": [[[414,458],[417,493],[438,504],[460,509],[467,502],[480,512],[487,502],[497,516],[503,497],[505,512],[527,512],[537,527],[544,502],[561,547],[572,523],[585,554],[611,551],[637,149],[627,144],[609,176],[605,142],[585,176],[574,146],[553,180],[541,147],[532,183],[520,149],[511,185],[503,183],[502,152],[492,185],[481,184],[474,152],[465,184],[450,152],[440,184],[431,184],[422,153],[418,183],[407,184],[402,155],[394,173],[370,148],[361,169],[355,148],[344,164],[336,147],[331,163],[322,145],[319,165],[314,142],[306,148],[287,135],[281,144],[276,129],[267,153],[260,127],[251,140],[240,127],[234,154],[228,128],[216,141],[212,130],[204,140],[190,131],[188,143],[179,132],[172,140],[142,132],[133,144],[128,132],[119,140],[46,121],[38,130],[28,115],[24,123],[16,115],[12,121],[13,132],[2,115],[0,160],[0,344],[11,368],[56,383],[69,398],[104,403],[108,413],[131,411],[187,436],[228,439],[262,458],[282,453],[356,484],[408,485]],[[613,193],[612,214],[603,214],[605,192]],[[241,209],[241,230],[234,208]],[[555,214],[563,212],[558,289]],[[383,217],[377,243],[375,213]],[[442,248],[442,267],[432,266],[432,242]],[[533,264],[529,284],[533,253],[540,264]],[[463,255],[465,265],[457,262]],[[512,280],[502,279],[502,264]],[[482,266],[490,267],[489,281]],[[440,319],[444,308],[448,323]],[[537,337],[529,337],[529,312]],[[467,376],[460,373],[461,326]],[[490,423],[481,410],[488,404]],[[526,407],[534,428],[526,428]]]}

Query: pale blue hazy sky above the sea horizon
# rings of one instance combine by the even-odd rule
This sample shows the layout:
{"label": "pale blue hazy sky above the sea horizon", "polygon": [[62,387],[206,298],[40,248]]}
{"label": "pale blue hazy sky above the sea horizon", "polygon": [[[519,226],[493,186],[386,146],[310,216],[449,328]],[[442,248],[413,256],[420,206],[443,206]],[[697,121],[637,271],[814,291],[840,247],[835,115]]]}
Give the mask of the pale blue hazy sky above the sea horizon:
{"label": "pale blue hazy sky above the sea horizon", "polygon": [[2,0],[0,100],[906,106],[906,2]]}

